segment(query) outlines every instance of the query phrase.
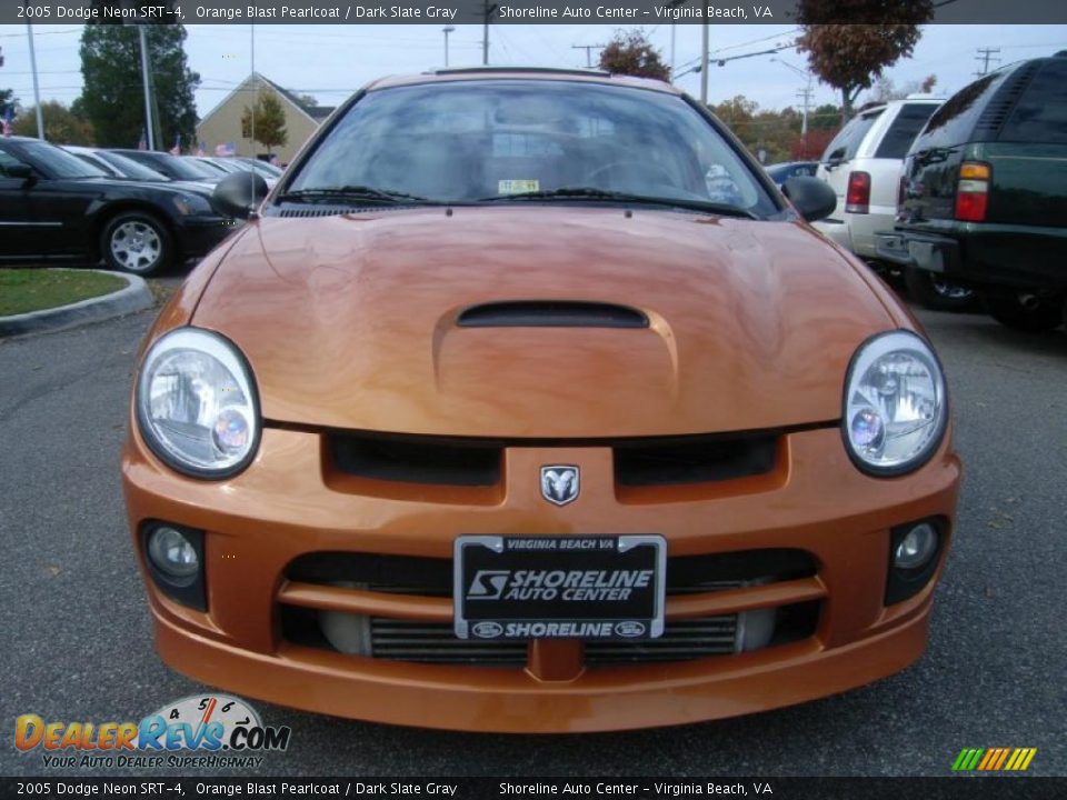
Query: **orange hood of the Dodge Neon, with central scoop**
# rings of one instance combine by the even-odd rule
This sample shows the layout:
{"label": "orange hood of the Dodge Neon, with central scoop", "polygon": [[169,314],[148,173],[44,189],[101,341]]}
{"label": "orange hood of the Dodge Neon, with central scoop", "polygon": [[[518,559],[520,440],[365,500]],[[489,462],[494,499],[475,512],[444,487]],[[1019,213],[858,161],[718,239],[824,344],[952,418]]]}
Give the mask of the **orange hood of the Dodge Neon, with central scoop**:
{"label": "orange hood of the Dodge Neon, with central scoop", "polygon": [[[824,422],[857,346],[897,327],[799,222],[509,206],[251,227],[192,321],[241,348],[276,421],[537,438]],[[457,322],[516,300],[617,303],[649,326]]]}

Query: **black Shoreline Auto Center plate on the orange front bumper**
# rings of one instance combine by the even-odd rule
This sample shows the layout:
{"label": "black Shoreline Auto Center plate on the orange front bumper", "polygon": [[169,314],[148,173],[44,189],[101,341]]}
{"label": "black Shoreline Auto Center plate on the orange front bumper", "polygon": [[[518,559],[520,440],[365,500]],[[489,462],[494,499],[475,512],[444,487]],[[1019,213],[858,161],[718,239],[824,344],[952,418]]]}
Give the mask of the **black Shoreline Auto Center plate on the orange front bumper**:
{"label": "black Shoreline Auto Center plate on the orange front bumper", "polygon": [[655,639],[664,632],[660,536],[456,540],[460,639]]}

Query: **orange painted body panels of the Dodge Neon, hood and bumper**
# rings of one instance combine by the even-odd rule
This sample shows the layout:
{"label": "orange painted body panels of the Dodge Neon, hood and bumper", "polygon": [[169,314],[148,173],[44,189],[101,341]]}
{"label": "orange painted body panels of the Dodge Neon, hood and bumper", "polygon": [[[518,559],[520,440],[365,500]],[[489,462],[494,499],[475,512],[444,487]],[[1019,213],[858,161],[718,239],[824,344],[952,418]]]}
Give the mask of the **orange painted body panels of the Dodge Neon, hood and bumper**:
{"label": "orange painted body panels of the Dodge Neon, hood and bumper", "polygon": [[[157,647],[198,680],[357,719],[561,732],[692,722],[859,687],[923,652],[960,464],[950,431],[921,468],[861,473],[837,424],[846,368],[874,333],[915,323],[889,290],[800,222],[560,207],[390,210],[262,218],[202,262],[148,337],[195,324],[248,358],[268,421],[223,481],[179,476],[131,416],[129,521]],[[469,329],[491,300],[632,306],[648,329]],[[786,429],[766,474],[625,487],[602,442]],[[342,474],[333,430],[499,437],[500,482],[441,488]],[[521,440],[531,440],[525,446]],[[565,440],[581,440],[568,444]],[[546,443],[546,440],[555,442]],[[538,470],[581,468],[580,498],[546,503]],[[946,521],[937,576],[882,602],[889,530]],[[206,533],[208,611],[163,596],[137,531]],[[279,604],[449,622],[451,599],[290,581],[301,554],[449,559],[461,534],[661,533],[669,554],[799,548],[816,573],[668,599],[667,618],[820,602],[814,633],[680,663],[588,667],[582,646],[534,641],[526,668],[348,656],[281,636]]]}

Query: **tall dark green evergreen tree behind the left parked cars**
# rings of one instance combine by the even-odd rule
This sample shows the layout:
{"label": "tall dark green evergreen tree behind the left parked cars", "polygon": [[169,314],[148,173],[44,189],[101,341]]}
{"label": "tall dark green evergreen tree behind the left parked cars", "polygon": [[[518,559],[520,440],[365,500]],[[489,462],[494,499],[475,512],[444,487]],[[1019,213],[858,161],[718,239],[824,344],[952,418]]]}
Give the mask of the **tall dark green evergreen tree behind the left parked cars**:
{"label": "tall dark green evergreen tree behind the left parked cars", "polygon": [[[98,2],[98,6],[119,6]],[[169,149],[178,137],[196,137],[193,90],[200,76],[186,61],[186,29],[180,24],[144,26],[150,67],[156,147]],[[132,147],[144,132],[141,52],[137,27],[90,23],[81,34],[84,89],[76,108],[92,124],[102,147]]]}

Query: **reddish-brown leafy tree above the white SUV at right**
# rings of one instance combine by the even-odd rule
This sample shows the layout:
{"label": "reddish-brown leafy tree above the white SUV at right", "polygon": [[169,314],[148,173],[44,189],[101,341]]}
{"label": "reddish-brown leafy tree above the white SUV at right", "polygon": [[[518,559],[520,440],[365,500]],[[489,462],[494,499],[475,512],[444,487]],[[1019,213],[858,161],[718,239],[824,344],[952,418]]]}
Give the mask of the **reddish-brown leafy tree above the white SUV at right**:
{"label": "reddish-brown leafy tree above the white SUV at right", "polygon": [[[911,54],[919,26],[933,16],[931,0],[799,0],[797,48],[815,74],[840,90],[847,119],[859,92]],[[861,24],[824,24],[830,19]]]}

